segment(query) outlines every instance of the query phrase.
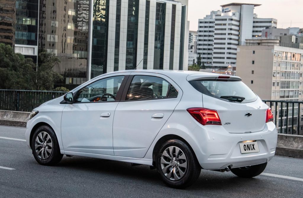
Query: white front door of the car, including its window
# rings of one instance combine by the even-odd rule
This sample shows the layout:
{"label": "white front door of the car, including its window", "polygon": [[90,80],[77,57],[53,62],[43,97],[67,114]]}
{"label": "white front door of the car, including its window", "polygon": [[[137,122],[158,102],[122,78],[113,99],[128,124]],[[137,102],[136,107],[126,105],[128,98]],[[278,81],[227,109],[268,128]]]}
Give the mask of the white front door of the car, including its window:
{"label": "white front door of the car, including its window", "polygon": [[73,104],[66,104],[61,124],[65,151],[114,155],[113,118],[128,74],[98,79],[79,89]]}

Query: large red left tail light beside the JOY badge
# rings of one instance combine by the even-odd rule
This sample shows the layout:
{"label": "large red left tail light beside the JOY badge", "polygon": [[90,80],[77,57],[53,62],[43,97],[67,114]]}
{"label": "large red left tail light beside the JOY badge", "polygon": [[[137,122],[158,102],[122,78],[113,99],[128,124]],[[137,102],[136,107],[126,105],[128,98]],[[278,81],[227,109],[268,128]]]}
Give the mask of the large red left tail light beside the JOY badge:
{"label": "large red left tail light beside the JOY badge", "polygon": [[205,108],[189,108],[186,110],[202,125],[221,125],[221,120],[216,110]]}

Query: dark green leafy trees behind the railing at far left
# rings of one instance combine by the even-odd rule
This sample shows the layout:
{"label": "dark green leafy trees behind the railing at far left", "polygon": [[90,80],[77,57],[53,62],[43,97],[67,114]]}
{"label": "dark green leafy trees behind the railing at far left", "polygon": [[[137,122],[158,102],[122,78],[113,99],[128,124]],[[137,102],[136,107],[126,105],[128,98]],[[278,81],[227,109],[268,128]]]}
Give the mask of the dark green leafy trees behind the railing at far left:
{"label": "dark green leafy trees behind the railing at far left", "polygon": [[[60,59],[41,52],[38,68],[33,60],[14,52],[10,45],[0,43],[0,89],[52,90],[63,77],[53,71]],[[38,69],[38,70],[37,70]]]}

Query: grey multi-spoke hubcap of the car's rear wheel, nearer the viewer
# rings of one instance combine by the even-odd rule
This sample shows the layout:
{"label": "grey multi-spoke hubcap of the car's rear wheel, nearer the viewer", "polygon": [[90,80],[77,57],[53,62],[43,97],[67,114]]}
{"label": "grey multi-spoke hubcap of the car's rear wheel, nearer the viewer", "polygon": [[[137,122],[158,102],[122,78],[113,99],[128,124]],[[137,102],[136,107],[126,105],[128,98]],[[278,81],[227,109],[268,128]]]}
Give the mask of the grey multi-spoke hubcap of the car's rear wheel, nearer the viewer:
{"label": "grey multi-spoke hubcap of the car's rear wheel, nearer the viewer", "polygon": [[161,155],[161,169],[169,180],[180,180],[187,169],[187,159],[183,151],[170,146]]}

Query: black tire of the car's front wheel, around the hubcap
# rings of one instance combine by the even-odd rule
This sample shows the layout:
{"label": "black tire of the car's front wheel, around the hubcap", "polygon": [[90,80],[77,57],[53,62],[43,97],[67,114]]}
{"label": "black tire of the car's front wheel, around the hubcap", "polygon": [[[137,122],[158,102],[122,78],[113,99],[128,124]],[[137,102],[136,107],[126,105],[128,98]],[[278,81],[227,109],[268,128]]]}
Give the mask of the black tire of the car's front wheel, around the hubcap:
{"label": "black tire of the car's front wheel, around the hubcap", "polygon": [[[46,134],[45,134],[45,132],[46,132]],[[48,141],[45,141],[45,144],[43,142],[44,145],[40,144],[36,141],[36,138],[38,135],[39,135],[39,137],[38,137],[39,142],[43,141],[43,140],[40,141],[41,140],[40,133],[42,134],[42,137],[43,137],[43,135],[45,135],[44,136],[45,139],[48,139],[48,135],[50,137],[50,140],[48,139]],[[53,166],[53,165],[56,165],[57,163],[59,163],[60,160],[62,159],[63,155],[60,153],[57,136],[51,127],[49,127],[47,125],[40,126],[38,129],[36,129],[31,141],[32,141],[31,145],[32,145],[33,156],[35,157],[36,161],[39,164],[46,165],[46,166]],[[48,146],[47,143],[52,143],[52,147]],[[42,150],[42,152],[40,154],[38,154],[36,152],[36,149],[35,149],[36,145],[37,145],[37,151]],[[43,150],[43,148],[45,150]],[[46,149],[51,150],[51,152],[47,152]],[[44,152],[44,155],[43,155],[43,152]]]}

